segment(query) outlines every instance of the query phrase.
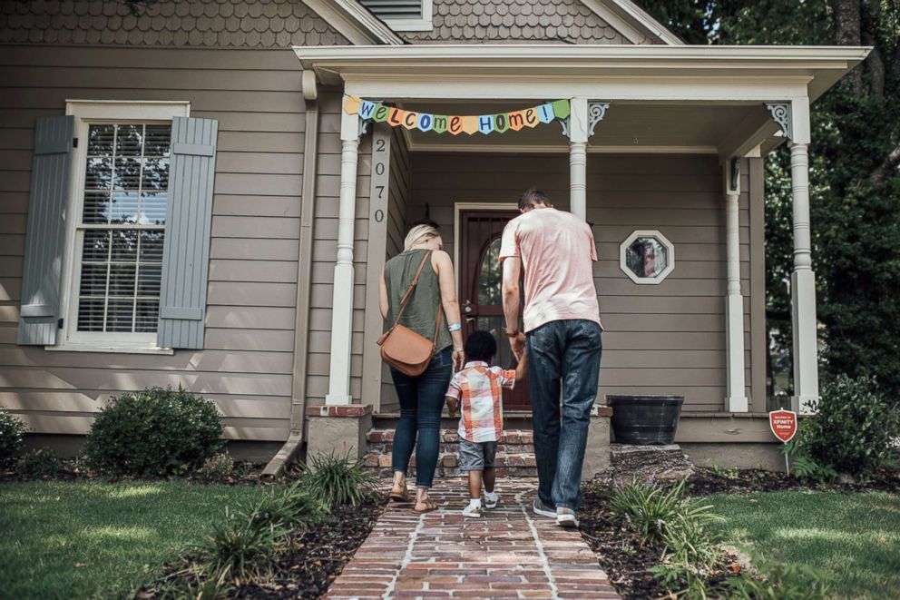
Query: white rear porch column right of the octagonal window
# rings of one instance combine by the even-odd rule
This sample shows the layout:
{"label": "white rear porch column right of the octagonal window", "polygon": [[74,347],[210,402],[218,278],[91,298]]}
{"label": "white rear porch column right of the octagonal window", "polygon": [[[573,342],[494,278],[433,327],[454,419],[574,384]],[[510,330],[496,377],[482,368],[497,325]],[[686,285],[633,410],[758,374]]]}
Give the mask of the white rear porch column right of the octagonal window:
{"label": "white rear porch column right of the octagonal window", "polygon": [[725,355],[727,362],[725,406],[729,412],[749,409],[744,383],[744,298],[740,293],[739,198],[740,177],[725,163],[725,236],[728,257],[728,290],[725,296]]}

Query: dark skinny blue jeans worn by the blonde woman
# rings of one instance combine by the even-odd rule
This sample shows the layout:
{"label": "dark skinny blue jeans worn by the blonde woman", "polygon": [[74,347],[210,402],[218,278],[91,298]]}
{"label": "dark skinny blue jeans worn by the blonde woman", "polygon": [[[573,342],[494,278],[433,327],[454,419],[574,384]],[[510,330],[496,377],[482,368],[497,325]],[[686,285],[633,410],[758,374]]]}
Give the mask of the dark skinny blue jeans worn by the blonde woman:
{"label": "dark skinny blue jeans worn by the blonde woman", "polygon": [[[416,487],[431,487],[440,449],[441,412],[453,376],[453,347],[437,352],[418,377],[391,369],[396,395],[400,398],[400,422],[394,434],[391,467],[406,475],[409,457],[416,447]],[[418,443],[416,443],[418,433]]]}

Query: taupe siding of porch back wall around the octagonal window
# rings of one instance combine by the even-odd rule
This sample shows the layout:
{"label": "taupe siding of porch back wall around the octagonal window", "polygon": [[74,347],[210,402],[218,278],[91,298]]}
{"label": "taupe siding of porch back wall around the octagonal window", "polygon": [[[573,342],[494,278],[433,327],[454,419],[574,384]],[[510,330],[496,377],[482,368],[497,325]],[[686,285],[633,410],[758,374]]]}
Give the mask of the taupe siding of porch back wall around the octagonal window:
{"label": "taupe siding of porch back wall around the octagonal window", "polygon": [[[427,202],[451,254],[455,202],[516,202],[534,185],[568,208],[565,154],[422,153],[412,163],[406,218],[421,218]],[[743,172],[741,285],[749,296],[748,169]],[[678,394],[687,410],[723,408],[726,250],[719,173],[709,156],[588,156],[588,221],[600,257],[594,280],[606,328],[602,395]],[[637,285],[619,268],[619,244],[637,229],[658,229],[675,245],[675,270],[660,285]],[[748,396],[749,307],[745,302]]]}

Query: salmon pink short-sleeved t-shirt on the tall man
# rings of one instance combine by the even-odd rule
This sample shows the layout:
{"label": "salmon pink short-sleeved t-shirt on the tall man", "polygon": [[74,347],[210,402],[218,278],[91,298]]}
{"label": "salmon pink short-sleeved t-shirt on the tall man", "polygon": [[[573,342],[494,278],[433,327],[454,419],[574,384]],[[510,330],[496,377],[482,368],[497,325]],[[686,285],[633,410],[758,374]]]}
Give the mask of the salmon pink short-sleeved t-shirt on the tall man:
{"label": "salmon pink short-sleeved t-shirt on the tall man", "polygon": [[504,229],[500,260],[510,257],[522,259],[526,333],[552,320],[601,325],[592,268],[597,248],[586,222],[553,208],[524,212]]}

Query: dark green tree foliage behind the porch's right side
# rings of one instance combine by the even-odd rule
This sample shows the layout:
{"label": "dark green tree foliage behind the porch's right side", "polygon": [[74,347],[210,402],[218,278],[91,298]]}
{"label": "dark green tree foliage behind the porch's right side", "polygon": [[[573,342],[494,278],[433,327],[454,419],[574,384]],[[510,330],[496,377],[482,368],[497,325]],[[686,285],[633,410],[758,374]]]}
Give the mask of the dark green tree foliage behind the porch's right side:
{"label": "dark green tree foliage behind the porch's right side", "polygon": [[[900,396],[900,3],[640,0],[689,44],[873,46],[812,106],[810,202],[827,376],[875,376]],[[793,268],[789,151],[766,164],[769,330],[789,348]]]}

